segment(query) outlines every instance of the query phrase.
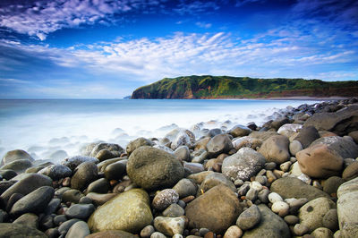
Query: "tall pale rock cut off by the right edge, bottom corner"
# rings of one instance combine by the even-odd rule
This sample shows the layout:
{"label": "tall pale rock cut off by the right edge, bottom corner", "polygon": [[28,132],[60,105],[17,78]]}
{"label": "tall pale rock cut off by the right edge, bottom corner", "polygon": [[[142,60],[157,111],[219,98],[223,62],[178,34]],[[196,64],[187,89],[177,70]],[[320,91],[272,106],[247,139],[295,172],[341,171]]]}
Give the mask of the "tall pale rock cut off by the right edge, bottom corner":
{"label": "tall pale rock cut off by the right edge, bottom corner", "polygon": [[337,191],[337,213],[342,237],[358,236],[358,178],[343,183]]}

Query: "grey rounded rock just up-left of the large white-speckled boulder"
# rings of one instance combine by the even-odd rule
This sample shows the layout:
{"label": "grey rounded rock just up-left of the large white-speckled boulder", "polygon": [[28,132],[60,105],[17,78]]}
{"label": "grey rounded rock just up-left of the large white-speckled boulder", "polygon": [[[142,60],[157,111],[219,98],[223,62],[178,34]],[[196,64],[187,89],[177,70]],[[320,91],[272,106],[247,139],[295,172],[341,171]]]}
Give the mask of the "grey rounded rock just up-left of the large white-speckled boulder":
{"label": "grey rounded rock just up-left of the large white-speckled boulder", "polygon": [[209,157],[217,157],[222,153],[227,153],[233,149],[233,143],[226,134],[219,134],[211,138],[207,144]]}

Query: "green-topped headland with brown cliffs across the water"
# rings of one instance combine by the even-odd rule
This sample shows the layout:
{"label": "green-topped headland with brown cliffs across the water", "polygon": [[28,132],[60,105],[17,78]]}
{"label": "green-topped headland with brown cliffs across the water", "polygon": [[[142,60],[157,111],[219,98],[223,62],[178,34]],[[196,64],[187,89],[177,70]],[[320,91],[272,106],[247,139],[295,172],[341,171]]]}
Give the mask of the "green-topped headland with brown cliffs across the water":
{"label": "green-topped headland with brown cliffs across the water", "polygon": [[166,78],[135,89],[132,98],[283,98],[357,95],[358,81],[328,82],[204,75]]}

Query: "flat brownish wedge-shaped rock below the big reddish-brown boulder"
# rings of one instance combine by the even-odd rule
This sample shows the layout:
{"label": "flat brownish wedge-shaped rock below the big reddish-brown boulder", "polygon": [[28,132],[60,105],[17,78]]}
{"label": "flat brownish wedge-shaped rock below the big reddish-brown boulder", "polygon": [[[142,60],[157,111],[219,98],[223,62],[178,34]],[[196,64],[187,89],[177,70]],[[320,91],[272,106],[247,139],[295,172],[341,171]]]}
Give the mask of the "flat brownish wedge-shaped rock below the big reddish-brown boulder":
{"label": "flat brownish wedge-shaped rock below the big reddish-brown boulder", "polygon": [[277,179],[274,183],[271,184],[270,190],[277,192],[283,199],[306,198],[308,200],[314,200],[320,197],[329,198],[326,192],[314,188],[306,183],[303,183],[301,180],[292,177]]}

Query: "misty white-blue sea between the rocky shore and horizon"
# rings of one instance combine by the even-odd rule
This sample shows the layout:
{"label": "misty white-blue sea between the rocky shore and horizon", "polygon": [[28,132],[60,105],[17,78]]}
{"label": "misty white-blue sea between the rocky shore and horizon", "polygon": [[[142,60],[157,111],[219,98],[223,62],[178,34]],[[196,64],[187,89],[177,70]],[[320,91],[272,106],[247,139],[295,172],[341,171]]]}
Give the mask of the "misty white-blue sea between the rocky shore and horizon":
{"label": "misty white-blue sea between the rocky shore and horizon", "polygon": [[[0,156],[24,149],[35,159],[58,162],[79,155],[89,142],[118,143],[125,148],[138,137],[161,138],[180,127],[231,129],[235,124],[268,120],[302,100],[0,100]],[[197,135],[200,136],[200,135]]]}

